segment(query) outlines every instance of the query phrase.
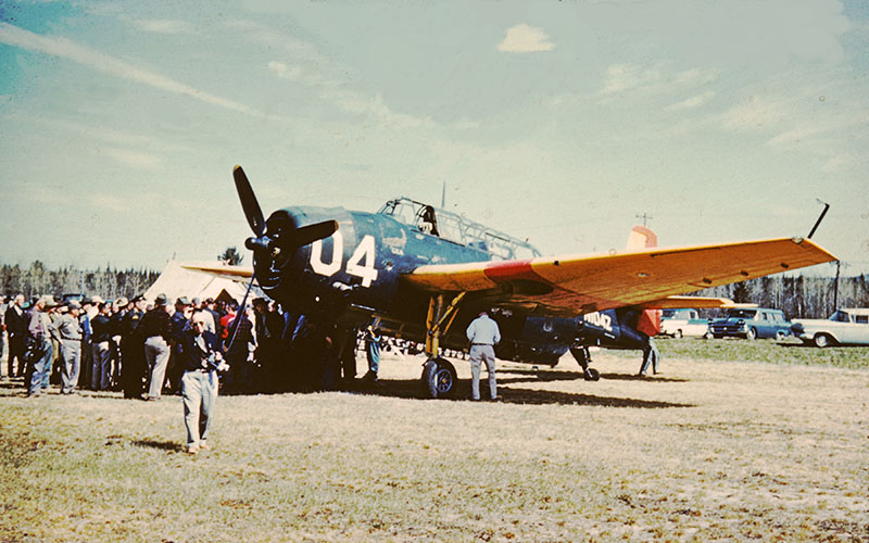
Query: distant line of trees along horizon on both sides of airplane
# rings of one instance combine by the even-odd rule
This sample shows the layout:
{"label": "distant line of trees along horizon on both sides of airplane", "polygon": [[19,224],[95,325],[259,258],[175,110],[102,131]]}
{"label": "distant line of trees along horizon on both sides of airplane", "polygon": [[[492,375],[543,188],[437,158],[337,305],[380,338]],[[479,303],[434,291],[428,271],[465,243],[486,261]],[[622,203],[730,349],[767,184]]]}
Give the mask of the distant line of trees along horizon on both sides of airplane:
{"label": "distant line of trees along horizon on both sides of airplane", "polygon": [[[17,264],[0,267],[0,292],[7,295],[21,293],[28,299],[64,293],[99,294],[105,299],[133,298],[148,290],[158,277],[160,272],[152,269],[115,269],[108,264],[105,268],[96,270],[73,266],[48,269],[40,261],[35,261],[27,268]],[[789,318],[826,318],[837,307],[869,307],[869,274],[843,278],[767,276],[704,289],[694,294],[782,310]],[[714,312],[714,315],[720,313]]]}

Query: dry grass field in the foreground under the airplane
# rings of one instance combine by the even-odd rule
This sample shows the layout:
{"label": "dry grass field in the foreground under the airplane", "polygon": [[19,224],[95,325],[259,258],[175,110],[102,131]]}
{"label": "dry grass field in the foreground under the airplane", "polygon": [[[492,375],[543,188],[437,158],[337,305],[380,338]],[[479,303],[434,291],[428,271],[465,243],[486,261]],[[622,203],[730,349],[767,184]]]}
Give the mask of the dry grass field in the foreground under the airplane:
{"label": "dry grass field in the foreground under the airplane", "polygon": [[2,383],[0,541],[869,541],[869,350],[660,348],[500,364],[500,403],[387,357],[368,393],[221,397],[193,457],[178,399]]}

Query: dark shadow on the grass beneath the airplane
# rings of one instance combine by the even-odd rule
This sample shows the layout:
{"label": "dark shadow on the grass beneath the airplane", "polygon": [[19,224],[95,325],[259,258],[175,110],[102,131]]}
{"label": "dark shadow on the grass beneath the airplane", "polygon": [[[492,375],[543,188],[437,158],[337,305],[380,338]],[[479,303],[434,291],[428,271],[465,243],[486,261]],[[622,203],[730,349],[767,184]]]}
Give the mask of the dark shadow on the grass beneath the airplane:
{"label": "dark shadow on the grass beneath the airplane", "polygon": [[[565,371],[565,374],[568,374]],[[575,378],[574,378],[575,379]],[[529,379],[530,381],[537,380]],[[596,396],[593,394],[572,394],[569,392],[558,392],[549,390],[526,390],[502,387],[499,379],[498,392],[501,400],[498,403],[522,404],[522,405],[600,405],[608,407],[633,407],[645,409],[659,409],[666,407],[695,407],[693,404],[681,404],[671,402],[653,402],[646,400],[635,400],[631,397],[610,397]],[[427,393],[421,390],[419,379],[380,379],[379,386],[355,384],[343,389],[345,392],[356,394],[370,394],[385,397],[401,397],[405,400],[429,400]],[[480,392],[484,396],[488,392],[486,380],[480,383]],[[454,397],[442,401],[469,401],[470,382],[463,380],[458,383],[458,389]],[[484,401],[486,402],[486,401]],[[489,403],[489,402],[486,402]]]}

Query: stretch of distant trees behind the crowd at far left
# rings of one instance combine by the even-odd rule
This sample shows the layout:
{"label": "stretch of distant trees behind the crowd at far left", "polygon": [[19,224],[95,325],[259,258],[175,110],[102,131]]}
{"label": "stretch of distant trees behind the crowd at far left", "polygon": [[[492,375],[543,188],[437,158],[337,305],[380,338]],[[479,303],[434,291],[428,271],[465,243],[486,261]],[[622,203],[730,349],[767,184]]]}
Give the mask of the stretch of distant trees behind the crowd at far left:
{"label": "stretch of distant trees behind the crowd at far left", "polygon": [[27,268],[17,264],[0,267],[0,293],[24,294],[26,299],[75,293],[99,294],[106,300],[130,299],[148,290],[158,277],[160,272],[153,269],[116,269],[109,264],[96,270],[74,266],[48,269],[40,261],[34,261]]}

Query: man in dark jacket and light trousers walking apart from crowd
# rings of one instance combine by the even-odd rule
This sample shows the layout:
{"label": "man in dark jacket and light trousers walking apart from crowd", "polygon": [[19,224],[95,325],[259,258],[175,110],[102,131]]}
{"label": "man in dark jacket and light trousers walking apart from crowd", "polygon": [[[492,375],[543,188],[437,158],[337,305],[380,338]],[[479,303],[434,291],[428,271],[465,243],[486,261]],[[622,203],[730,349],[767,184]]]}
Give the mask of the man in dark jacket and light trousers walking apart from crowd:
{"label": "man in dark jacket and light trousers walking apart from crowd", "polygon": [[184,399],[184,424],[187,428],[187,453],[197,454],[211,449],[209,429],[212,412],[217,400],[217,370],[229,367],[223,363],[219,338],[205,330],[211,315],[196,313],[182,330],[179,365],[181,397]]}

